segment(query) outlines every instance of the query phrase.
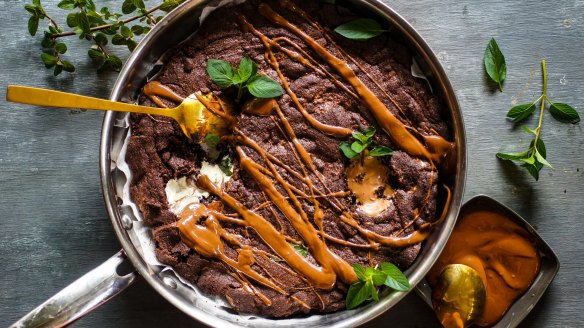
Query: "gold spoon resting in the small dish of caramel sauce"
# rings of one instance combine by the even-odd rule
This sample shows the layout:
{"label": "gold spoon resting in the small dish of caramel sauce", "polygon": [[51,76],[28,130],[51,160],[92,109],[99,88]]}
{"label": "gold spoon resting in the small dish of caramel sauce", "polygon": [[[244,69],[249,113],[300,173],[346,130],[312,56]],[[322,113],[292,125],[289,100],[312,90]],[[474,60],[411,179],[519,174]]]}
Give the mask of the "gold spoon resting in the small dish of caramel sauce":
{"label": "gold spoon resting in the small dish of caramel sauce", "polygon": [[446,328],[468,327],[485,307],[485,285],[479,273],[463,264],[449,264],[438,277],[432,304]]}

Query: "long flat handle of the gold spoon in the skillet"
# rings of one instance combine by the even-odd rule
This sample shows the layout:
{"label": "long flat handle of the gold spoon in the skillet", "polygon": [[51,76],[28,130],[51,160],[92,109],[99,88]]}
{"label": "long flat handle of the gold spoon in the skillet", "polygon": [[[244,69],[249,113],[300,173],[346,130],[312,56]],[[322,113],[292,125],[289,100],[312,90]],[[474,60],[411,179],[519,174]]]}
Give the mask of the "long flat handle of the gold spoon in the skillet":
{"label": "long flat handle of the gold spoon in the skillet", "polygon": [[113,110],[119,112],[162,115],[176,119],[175,111],[173,109],[132,105],[123,102],[81,96],[74,93],[19,85],[8,86],[6,100],[36,106]]}

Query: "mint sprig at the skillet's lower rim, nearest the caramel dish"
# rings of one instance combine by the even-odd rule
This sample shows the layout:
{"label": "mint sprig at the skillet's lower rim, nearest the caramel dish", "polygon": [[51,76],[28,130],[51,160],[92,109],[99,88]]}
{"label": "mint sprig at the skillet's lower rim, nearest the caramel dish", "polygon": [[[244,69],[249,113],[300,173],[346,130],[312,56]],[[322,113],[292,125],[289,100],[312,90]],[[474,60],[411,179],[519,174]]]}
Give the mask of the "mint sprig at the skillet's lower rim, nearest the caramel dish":
{"label": "mint sprig at the skillet's lower rim, nearest the caramel dish", "polygon": [[357,280],[347,292],[345,304],[347,309],[354,309],[361,303],[372,298],[379,302],[379,292],[377,287],[387,286],[398,291],[410,289],[408,278],[395,265],[383,262],[380,268],[364,268],[360,264],[353,264],[353,270],[357,275]]}

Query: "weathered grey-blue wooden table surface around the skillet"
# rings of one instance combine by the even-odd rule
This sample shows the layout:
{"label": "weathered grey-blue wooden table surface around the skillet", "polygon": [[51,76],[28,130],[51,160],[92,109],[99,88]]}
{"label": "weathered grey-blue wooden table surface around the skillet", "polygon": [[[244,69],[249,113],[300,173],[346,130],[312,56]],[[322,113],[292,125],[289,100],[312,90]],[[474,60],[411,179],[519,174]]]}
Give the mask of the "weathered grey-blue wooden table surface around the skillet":
{"label": "weathered grey-blue wooden table surface around the skillet", "polygon": [[[47,11],[64,20],[58,0]],[[121,1],[95,0],[119,8]],[[149,1],[153,2],[153,1]],[[160,1],[158,1],[160,2]],[[440,58],[463,109],[468,141],[465,199],[487,194],[526,217],[558,254],[561,269],[524,327],[584,324],[584,133],[581,125],[544,118],[554,170],[535,182],[495,158],[525,147],[527,134],[506,111],[541,92],[546,58],[549,95],[584,114],[584,1],[385,0]],[[77,72],[57,78],[40,62],[40,36],[30,37],[28,1],[0,1],[0,326],[7,326],[119,248],[101,195],[98,146],[103,113],[8,104],[8,84],[48,87],[106,98],[116,74],[97,74],[87,46],[71,40]],[[486,83],[483,52],[495,37],[508,65],[504,92]],[[121,52],[122,53],[122,52]],[[124,55],[125,56],[125,55]],[[125,58],[125,57],[124,57]],[[536,125],[536,118],[528,122]],[[522,150],[522,149],[521,149]],[[138,281],[79,320],[78,327],[200,327]],[[438,326],[414,294],[371,327]]]}

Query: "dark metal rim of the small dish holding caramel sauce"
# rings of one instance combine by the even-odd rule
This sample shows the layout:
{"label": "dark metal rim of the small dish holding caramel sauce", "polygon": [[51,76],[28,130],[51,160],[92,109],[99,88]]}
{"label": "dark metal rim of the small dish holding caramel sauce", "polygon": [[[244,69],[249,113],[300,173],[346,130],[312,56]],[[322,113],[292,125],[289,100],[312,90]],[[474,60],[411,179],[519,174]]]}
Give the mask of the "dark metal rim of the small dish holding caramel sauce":
{"label": "dark metal rim of the small dish holding caramel sauce", "polygon": [[[535,307],[535,304],[543,296],[552,280],[554,280],[554,277],[560,269],[560,262],[550,246],[524,218],[489,196],[478,195],[464,203],[460,210],[460,216],[463,216],[470,211],[480,209],[499,212],[527,230],[535,241],[535,245],[541,257],[540,270],[531,284],[531,287],[529,287],[523,296],[513,303],[503,318],[501,318],[501,320],[494,326],[496,328],[517,327],[517,325],[519,325],[519,323]],[[428,285],[426,279],[422,280],[422,282],[416,286],[416,292],[430,307],[432,307],[432,289]]]}

